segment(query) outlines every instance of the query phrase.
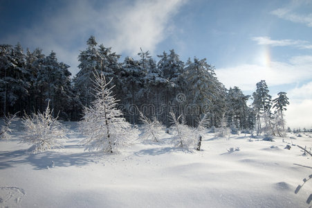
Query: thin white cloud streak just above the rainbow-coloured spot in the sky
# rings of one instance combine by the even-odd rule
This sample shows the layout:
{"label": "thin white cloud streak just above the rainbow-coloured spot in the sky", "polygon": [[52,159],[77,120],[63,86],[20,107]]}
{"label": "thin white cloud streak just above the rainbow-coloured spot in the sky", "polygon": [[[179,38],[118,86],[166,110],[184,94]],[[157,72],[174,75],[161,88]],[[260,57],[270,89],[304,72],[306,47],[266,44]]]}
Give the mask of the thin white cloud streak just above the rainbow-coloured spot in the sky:
{"label": "thin white cloud streak just above the rainbow-coloured spot in the sky", "polygon": [[257,42],[259,45],[270,46],[295,46],[300,49],[312,49],[312,44],[306,40],[272,40],[268,36],[252,37],[251,40]]}

